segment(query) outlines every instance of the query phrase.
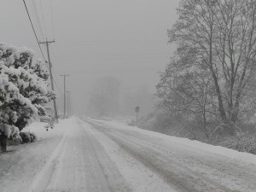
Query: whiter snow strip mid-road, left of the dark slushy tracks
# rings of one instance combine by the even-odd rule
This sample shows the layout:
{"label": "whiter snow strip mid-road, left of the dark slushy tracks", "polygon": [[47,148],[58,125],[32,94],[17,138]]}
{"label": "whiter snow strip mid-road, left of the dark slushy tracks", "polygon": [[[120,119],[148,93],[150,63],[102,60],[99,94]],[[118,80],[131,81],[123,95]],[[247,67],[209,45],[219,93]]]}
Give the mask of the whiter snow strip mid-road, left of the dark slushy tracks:
{"label": "whiter snow strip mid-road, left of the dark slushy tracks", "polygon": [[[149,170],[130,154],[126,153],[125,150],[120,148],[111,138],[102,134],[102,131],[98,131],[94,126],[85,122],[83,119],[80,121],[83,122],[86,132],[88,132],[90,136],[93,136],[93,140],[100,143],[104,153],[107,154],[110,161],[113,162],[115,170],[118,170],[120,174],[119,177],[123,178],[123,183],[116,184],[116,182],[113,182],[112,186],[115,186],[117,190],[112,191],[177,192],[177,190],[174,190],[170,185],[165,183],[161,177]],[[100,160],[102,160],[102,158]],[[108,178],[115,180],[119,177],[112,177],[110,175]],[[119,186],[125,186],[124,184],[130,188],[126,188],[126,190],[123,190],[124,188],[121,188],[122,190],[119,189]]]}

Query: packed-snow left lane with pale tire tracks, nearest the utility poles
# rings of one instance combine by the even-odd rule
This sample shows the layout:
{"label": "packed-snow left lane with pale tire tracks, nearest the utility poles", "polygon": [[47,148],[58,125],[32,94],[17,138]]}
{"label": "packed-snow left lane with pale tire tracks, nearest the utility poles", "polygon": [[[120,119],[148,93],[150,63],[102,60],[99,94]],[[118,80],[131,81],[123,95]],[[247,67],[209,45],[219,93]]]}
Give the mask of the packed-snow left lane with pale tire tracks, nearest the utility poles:
{"label": "packed-snow left lane with pale tire tracks, nearest the utility poles", "polygon": [[101,143],[86,131],[80,120],[73,120],[72,127],[68,129],[68,137],[61,144],[63,146],[59,153],[53,157],[57,163],[46,166],[47,170],[52,168],[53,171],[39,176],[50,177],[48,183],[41,185],[40,191],[131,191]]}

